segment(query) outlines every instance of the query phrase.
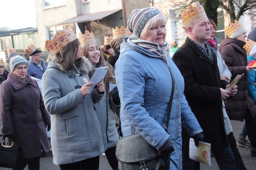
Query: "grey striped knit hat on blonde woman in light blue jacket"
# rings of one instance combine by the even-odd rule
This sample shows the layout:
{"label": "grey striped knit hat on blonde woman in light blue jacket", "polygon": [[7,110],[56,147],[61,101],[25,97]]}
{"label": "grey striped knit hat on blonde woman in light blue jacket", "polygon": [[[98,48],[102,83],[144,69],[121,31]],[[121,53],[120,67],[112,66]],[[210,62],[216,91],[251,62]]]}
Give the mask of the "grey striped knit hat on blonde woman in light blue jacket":
{"label": "grey striped knit hat on blonde woman in light blue jacket", "polygon": [[148,7],[142,9],[135,9],[131,12],[128,19],[128,29],[131,33],[140,37],[141,31],[145,27],[147,21],[153,16],[161,14],[161,12],[156,7]]}

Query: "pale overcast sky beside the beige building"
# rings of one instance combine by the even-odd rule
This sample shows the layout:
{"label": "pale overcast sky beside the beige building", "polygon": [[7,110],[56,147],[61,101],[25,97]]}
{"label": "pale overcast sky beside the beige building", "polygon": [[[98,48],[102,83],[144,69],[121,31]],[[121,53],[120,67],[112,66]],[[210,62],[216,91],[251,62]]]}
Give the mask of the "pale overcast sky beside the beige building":
{"label": "pale overcast sky beside the beige building", "polygon": [[35,0],[0,0],[0,28],[37,27]]}

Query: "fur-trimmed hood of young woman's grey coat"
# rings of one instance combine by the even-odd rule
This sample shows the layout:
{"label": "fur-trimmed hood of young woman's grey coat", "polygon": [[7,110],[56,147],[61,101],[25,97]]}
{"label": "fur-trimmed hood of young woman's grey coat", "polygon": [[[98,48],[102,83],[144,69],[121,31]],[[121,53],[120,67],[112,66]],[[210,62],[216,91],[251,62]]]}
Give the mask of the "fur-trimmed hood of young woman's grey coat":
{"label": "fur-trimmed hood of young woman's grey coat", "polygon": [[[86,58],[86,57],[83,56],[79,60],[83,60],[83,62],[82,62],[82,65],[79,68],[77,68],[78,71],[88,74],[90,71],[93,70],[93,65],[91,64],[89,58]],[[51,64],[50,61],[55,63],[55,64]],[[63,63],[57,63],[57,57],[54,53],[52,53],[52,52],[49,53],[46,62],[48,63],[47,69],[56,68],[56,69],[59,69],[61,71],[64,71]],[[75,65],[73,64],[73,66],[75,66]],[[64,72],[69,72],[69,71],[64,71]]]}

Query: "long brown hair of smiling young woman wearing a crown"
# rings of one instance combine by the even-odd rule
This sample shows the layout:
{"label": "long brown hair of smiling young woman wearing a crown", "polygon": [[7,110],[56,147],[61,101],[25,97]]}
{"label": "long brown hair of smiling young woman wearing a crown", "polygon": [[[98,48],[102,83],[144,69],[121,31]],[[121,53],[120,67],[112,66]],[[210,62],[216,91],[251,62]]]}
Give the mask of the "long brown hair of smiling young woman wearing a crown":
{"label": "long brown hair of smiling young woman wearing a crown", "polygon": [[[105,85],[106,94],[110,95],[110,93],[109,93],[109,76],[115,76],[115,73],[114,73],[113,67],[108,62],[106,62],[104,60],[104,54],[103,54],[103,51],[101,50],[100,46],[99,46],[99,50],[100,50],[100,60],[99,60],[99,63],[101,61],[103,67],[105,67],[105,66],[109,67],[109,69],[106,72],[106,75],[104,77],[104,85]],[[88,44],[83,47],[83,56],[89,58],[88,57]],[[99,67],[99,63],[96,65],[96,68]],[[91,74],[89,74],[89,78],[91,78],[91,76],[93,76],[93,73],[94,73],[94,71],[92,71]]]}

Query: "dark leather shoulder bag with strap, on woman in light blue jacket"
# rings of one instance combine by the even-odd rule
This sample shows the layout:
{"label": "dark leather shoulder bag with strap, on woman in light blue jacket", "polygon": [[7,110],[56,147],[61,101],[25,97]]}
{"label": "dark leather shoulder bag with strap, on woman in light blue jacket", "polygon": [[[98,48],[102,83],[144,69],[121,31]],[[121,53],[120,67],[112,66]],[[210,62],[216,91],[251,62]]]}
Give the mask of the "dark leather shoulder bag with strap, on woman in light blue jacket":
{"label": "dark leather shoulder bag with strap, on woman in light blue jacket", "polygon": [[[169,68],[170,70],[170,68]],[[167,132],[169,126],[169,119],[172,107],[172,100],[174,94],[174,79],[172,77],[172,91],[169,101],[167,120],[165,130]],[[119,116],[119,126],[117,132],[119,138],[121,133],[121,122]],[[141,134],[129,135],[121,137],[116,145],[116,158],[118,160],[119,170],[169,170],[170,169],[170,154],[165,157],[160,157],[156,148],[151,146]]]}

